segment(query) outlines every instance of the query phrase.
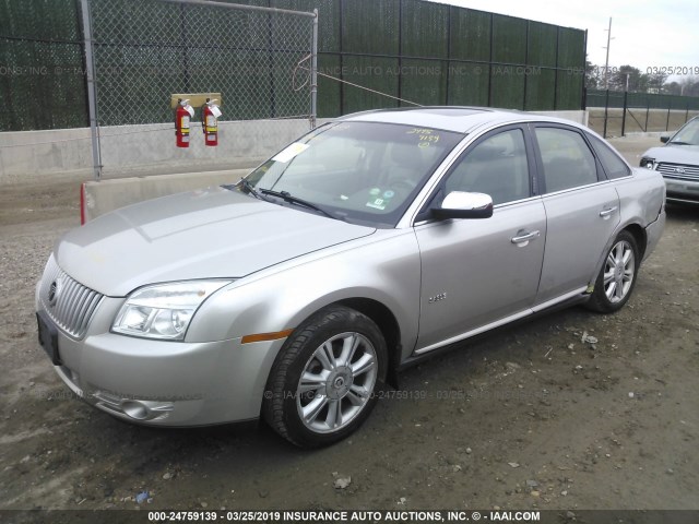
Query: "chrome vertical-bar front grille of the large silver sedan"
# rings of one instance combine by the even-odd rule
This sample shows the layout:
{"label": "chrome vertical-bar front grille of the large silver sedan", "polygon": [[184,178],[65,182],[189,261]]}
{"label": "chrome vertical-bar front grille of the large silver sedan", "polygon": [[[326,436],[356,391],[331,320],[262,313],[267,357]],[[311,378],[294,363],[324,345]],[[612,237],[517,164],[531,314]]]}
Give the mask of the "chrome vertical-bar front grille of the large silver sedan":
{"label": "chrome vertical-bar front grille of the large silver sedan", "polygon": [[82,338],[103,295],[83,286],[61,270],[51,255],[44,270],[39,300],[56,325]]}

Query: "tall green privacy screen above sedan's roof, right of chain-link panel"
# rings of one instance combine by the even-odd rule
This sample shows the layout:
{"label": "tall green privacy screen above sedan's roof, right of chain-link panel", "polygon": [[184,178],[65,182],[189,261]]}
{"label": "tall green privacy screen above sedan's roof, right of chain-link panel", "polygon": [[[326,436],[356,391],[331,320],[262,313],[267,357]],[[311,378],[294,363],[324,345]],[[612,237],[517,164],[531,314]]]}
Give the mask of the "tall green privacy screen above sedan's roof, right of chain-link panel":
{"label": "tall green privacy screen above sedan's roof, right of chain-link panel", "polygon": [[319,9],[321,73],[395,97],[321,75],[320,117],[410,103],[582,108],[583,31],[423,0],[294,4]]}

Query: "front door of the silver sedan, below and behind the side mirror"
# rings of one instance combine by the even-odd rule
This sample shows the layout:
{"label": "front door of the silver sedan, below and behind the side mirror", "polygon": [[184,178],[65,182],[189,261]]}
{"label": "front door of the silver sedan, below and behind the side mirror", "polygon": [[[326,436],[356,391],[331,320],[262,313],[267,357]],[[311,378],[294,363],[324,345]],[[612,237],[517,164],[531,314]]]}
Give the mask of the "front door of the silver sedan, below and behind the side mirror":
{"label": "front door of the silver sedan, below and behind the side mirror", "polygon": [[451,191],[469,191],[490,194],[495,207],[490,218],[416,224],[422,258],[416,353],[526,314],[533,305],[546,215],[531,189],[531,152],[524,128],[485,134],[454,163],[427,204],[438,204]]}

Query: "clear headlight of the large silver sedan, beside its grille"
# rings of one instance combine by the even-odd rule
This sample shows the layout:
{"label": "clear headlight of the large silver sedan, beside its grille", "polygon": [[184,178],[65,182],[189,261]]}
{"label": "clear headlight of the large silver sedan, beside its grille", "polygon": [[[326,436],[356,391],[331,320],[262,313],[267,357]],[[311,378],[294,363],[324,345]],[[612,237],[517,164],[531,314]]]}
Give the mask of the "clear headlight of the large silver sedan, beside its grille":
{"label": "clear headlight of the large silver sedan, beside its grille", "polygon": [[181,341],[197,309],[230,281],[158,284],[133,291],[119,310],[111,331],[144,338]]}

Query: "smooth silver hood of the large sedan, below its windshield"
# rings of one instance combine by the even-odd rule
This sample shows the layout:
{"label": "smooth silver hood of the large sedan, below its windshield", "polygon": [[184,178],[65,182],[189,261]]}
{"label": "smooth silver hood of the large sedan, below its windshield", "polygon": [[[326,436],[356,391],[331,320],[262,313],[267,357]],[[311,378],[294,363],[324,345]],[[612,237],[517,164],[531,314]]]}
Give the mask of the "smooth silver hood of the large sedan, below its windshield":
{"label": "smooth silver hood of the large sedan, below its windshield", "polygon": [[81,284],[120,297],[152,283],[241,277],[375,231],[209,188],[103,215],[63,237],[56,259]]}

